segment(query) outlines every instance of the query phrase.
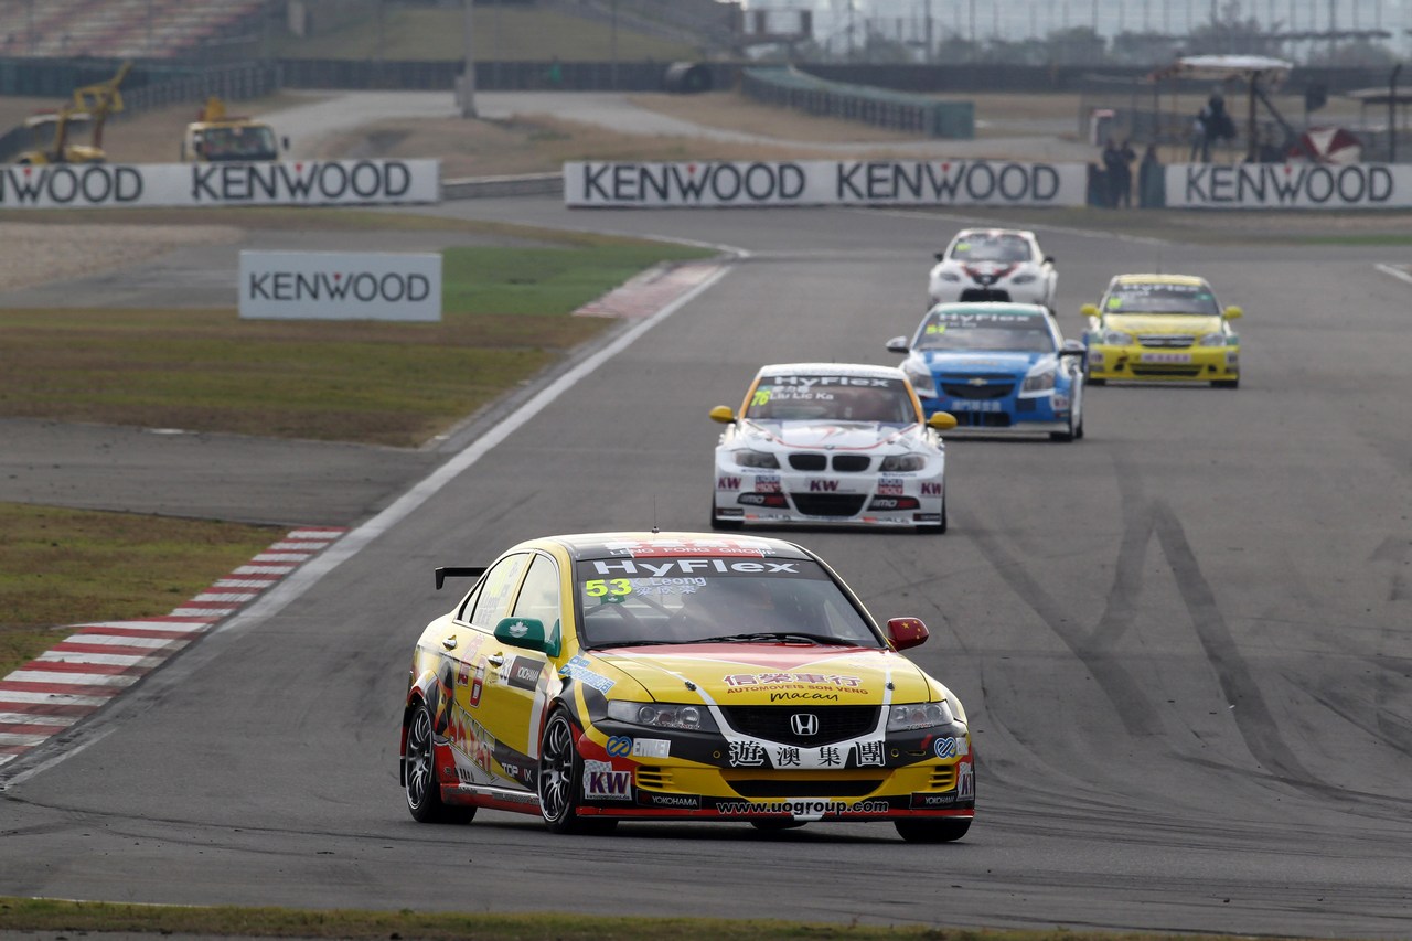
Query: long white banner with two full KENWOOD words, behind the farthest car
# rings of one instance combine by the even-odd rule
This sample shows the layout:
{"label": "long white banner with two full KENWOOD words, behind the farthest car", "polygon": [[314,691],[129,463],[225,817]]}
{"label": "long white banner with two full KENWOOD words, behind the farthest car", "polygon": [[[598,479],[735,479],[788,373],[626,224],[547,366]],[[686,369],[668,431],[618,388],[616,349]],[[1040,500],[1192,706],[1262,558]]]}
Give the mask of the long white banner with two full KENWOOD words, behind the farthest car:
{"label": "long white banner with two full KENWOOD words, behind the farthest car", "polygon": [[568,162],[569,206],[1082,206],[1083,164],[991,160]]}

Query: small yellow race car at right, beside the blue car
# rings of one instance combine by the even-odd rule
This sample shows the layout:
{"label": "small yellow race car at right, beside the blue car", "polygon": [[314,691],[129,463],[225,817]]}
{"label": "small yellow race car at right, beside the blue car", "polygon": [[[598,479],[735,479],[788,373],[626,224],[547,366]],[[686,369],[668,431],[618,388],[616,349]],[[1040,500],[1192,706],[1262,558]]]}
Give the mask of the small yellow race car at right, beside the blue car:
{"label": "small yellow race car at right, beside the blue car", "polygon": [[1090,386],[1107,380],[1209,381],[1240,386],[1240,336],[1204,278],[1189,274],[1120,274],[1089,318]]}

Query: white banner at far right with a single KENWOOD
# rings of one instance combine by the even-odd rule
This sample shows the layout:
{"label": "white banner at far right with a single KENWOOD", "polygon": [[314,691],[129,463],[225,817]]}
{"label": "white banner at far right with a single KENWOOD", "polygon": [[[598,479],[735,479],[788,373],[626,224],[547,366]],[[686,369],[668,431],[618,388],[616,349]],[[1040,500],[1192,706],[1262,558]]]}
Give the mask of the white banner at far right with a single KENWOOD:
{"label": "white banner at far right with a single KENWOOD", "polygon": [[1178,209],[1406,209],[1406,164],[1172,164],[1166,205]]}

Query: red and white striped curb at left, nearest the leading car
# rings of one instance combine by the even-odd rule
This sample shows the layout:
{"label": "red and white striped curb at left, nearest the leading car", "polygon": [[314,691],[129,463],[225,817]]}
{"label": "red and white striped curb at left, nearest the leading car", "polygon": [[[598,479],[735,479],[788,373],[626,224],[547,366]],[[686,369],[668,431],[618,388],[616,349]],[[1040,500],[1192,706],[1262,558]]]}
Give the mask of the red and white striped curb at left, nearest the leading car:
{"label": "red and white striped curb at left, nearest the leading car", "polygon": [[102,709],[345,531],[292,530],[169,615],[75,625],[69,637],[0,680],[0,764]]}

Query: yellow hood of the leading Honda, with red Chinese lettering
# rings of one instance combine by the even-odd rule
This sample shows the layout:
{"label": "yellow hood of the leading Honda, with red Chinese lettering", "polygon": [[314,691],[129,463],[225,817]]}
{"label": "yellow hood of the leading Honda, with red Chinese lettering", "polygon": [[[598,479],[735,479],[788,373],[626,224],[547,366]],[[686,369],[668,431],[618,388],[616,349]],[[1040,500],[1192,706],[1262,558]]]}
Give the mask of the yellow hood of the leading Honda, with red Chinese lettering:
{"label": "yellow hood of the leading Honda, with red Chinese lettering", "polygon": [[[661,702],[700,697],[717,705],[882,705],[925,702],[942,694],[907,657],[867,647],[678,644],[589,656],[621,670]],[[695,691],[686,687],[688,680]]]}

